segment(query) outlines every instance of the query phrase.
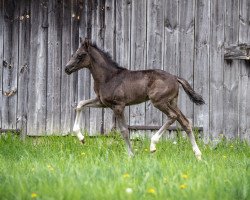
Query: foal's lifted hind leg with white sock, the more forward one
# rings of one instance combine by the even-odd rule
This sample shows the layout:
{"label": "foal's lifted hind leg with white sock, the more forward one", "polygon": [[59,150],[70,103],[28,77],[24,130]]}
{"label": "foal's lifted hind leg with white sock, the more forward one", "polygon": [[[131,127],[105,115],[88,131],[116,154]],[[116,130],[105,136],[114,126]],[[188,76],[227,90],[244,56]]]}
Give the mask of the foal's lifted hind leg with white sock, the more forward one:
{"label": "foal's lifted hind leg with white sock, the more forward one", "polygon": [[164,112],[168,116],[168,121],[153,135],[150,143],[150,152],[153,153],[156,151],[156,144],[159,142],[164,131],[175,122],[177,115],[169,108],[169,103],[155,103],[156,108]]}

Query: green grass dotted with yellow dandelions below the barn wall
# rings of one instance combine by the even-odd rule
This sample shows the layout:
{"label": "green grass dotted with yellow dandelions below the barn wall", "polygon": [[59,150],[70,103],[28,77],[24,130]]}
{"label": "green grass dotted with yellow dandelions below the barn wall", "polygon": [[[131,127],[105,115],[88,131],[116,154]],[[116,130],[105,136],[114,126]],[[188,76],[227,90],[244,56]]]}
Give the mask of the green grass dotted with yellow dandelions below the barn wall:
{"label": "green grass dotted with yellow dandelions below the barn wall", "polygon": [[201,162],[186,139],[161,141],[155,154],[147,139],[132,143],[131,159],[120,136],[85,145],[71,136],[1,136],[0,199],[250,199],[247,143],[199,141]]}

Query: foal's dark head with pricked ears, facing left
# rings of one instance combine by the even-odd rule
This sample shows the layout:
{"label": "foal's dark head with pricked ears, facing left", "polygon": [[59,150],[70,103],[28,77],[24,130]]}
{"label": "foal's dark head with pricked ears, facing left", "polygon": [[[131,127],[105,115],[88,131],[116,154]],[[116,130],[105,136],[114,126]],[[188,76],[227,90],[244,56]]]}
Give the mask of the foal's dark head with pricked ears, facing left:
{"label": "foal's dark head with pricked ears, facing left", "polygon": [[70,61],[65,67],[65,72],[71,74],[79,69],[86,68],[90,66],[90,56],[88,50],[90,48],[90,42],[88,39],[84,41],[80,38],[80,47],[73,54]]}

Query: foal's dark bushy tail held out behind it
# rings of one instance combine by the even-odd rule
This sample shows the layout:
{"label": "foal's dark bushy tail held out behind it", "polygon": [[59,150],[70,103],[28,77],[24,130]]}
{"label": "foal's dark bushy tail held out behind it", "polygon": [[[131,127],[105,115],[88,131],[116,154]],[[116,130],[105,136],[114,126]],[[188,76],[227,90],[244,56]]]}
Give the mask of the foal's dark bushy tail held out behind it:
{"label": "foal's dark bushy tail held out behind it", "polygon": [[205,101],[202,96],[197,94],[185,79],[177,77],[177,80],[182,85],[183,89],[188,94],[191,101],[193,101],[196,105],[205,104]]}

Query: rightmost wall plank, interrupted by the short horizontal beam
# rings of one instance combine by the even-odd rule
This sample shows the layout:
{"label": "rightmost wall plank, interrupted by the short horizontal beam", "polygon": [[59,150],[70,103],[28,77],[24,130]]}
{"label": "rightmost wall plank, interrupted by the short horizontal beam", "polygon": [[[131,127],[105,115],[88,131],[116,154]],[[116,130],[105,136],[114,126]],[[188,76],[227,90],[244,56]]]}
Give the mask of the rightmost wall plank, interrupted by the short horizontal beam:
{"label": "rightmost wall plank, interrupted by the short horizontal beam", "polygon": [[[250,43],[250,1],[240,1],[239,43]],[[239,134],[250,141],[250,62],[239,61]]]}

